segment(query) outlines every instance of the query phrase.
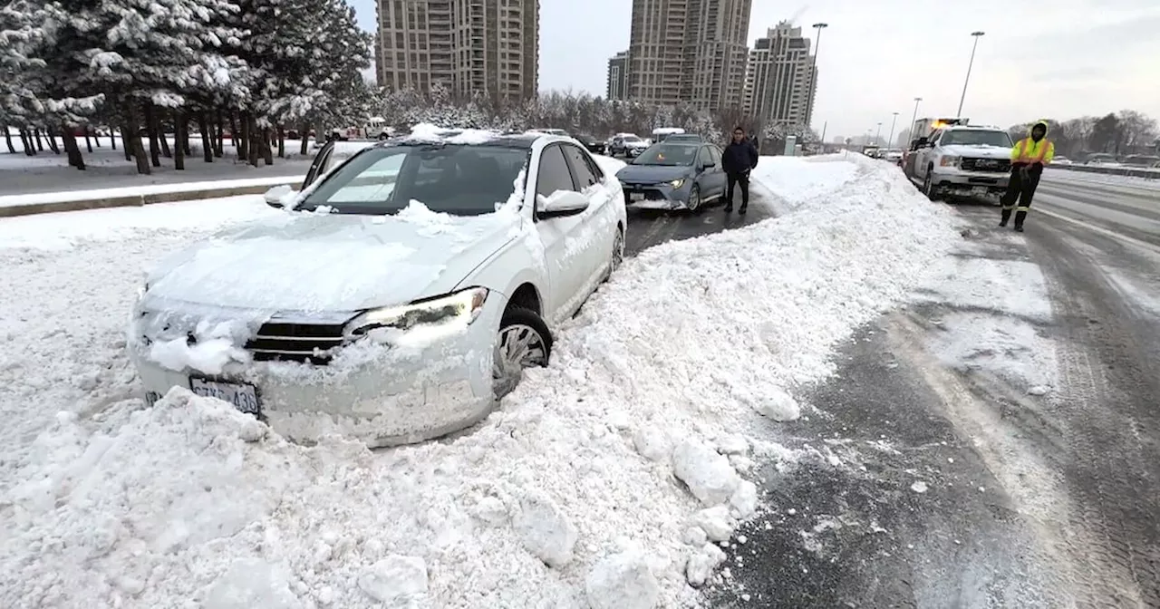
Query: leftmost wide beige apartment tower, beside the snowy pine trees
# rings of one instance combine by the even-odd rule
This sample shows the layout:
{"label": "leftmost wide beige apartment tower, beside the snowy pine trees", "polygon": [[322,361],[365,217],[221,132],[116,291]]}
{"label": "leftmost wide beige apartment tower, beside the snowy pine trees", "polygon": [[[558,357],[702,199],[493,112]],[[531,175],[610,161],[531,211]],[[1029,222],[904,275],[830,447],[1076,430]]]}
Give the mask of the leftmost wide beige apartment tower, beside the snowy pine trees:
{"label": "leftmost wide beige apartment tower, beside the snowy pine trees", "polygon": [[539,85],[539,0],[377,0],[376,77],[390,90],[496,101],[534,97]]}

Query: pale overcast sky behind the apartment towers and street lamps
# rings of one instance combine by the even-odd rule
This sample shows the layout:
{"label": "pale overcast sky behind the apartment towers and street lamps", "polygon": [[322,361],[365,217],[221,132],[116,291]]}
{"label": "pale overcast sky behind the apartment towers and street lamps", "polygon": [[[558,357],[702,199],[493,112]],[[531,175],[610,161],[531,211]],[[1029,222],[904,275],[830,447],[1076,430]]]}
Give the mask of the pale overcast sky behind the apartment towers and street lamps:
{"label": "pale overcast sky behind the apartment towers and street lamps", "polygon": [[[351,0],[375,27],[374,0]],[[749,44],[783,19],[829,23],[814,129],[826,139],[954,115],[984,30],[963,115],[1002,126],[1132,108],[1160,118],[1160,0],[754,0]],[[541,0],[539,88],[604,95],[608,57],[629,46],[631,0]],[[796,13],[796,14],[795,14]],[[960,16],[959,16],[960,15]],[[812,30],[811,30],[812,36]]]}

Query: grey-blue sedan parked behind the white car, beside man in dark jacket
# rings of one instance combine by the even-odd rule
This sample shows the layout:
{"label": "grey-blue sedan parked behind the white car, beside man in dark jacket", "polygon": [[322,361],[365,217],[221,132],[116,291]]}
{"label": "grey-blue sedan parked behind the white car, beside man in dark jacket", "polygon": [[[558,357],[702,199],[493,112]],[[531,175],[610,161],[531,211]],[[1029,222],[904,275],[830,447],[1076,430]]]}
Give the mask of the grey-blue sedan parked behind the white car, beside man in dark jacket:
{"label": "grey-blue sedan parked behind the white car, beside man in dark jacket", "polygon": [[667,139],[616,173],[630,208],[697,211],[725,195],[722,151]]}

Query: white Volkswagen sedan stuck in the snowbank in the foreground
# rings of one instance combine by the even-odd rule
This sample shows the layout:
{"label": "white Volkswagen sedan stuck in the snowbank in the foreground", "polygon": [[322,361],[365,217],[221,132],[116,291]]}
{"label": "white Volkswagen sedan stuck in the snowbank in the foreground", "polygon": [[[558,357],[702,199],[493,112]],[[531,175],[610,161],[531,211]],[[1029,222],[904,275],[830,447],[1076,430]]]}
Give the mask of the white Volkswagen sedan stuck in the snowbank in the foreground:
{"label": "white Volkswagen sedan stuck in the snowbank in the foreground", "polygon": [[291,440],[418,442],[486,416],[623,260],[619,182],[570,138],[420,125],[327,171],[285,211],[165,259],[128,349]]}

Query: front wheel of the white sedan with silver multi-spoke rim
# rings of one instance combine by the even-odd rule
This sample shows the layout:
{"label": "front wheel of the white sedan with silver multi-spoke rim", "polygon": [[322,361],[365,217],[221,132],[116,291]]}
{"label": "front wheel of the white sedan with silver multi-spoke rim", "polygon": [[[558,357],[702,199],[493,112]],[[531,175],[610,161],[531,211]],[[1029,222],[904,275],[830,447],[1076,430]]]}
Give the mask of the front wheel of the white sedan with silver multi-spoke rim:
{"label": "front wheel of the white sedan with silver multi-spoke rim", "polygon": [[500,399],[515,390],[524,368],[543,368],[552,354],[552,334],[534,311],[509,307],[500,320],[492,360],[492,390]]}

